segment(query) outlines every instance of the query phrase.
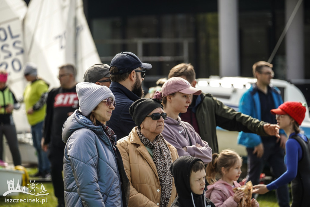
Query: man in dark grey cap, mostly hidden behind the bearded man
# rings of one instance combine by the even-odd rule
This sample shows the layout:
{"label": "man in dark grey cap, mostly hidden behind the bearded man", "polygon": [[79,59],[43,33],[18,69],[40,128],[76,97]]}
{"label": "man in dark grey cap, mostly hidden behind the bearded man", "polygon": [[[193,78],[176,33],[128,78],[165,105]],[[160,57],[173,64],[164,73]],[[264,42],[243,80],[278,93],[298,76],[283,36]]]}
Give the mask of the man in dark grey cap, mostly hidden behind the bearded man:
{"label": "man in dark grey cap, mostly hidden behind the bearded man", "polygon": [[110,87],[110,66],[108,64],[95,64],[89,67],[84,74],[84,82],[95,83]]}

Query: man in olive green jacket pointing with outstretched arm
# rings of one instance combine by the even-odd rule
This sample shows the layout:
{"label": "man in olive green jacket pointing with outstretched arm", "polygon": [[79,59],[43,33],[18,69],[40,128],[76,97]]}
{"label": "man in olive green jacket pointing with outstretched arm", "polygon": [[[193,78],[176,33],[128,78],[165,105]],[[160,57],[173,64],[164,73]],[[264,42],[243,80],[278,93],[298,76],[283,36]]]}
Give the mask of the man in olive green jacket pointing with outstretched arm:
{"label": "man in olive green jacket pointing with outstretched arm", "polygon": [[[194,67],[188,63],[181,63],[173,67],[168,75],[181,77],[187,80],[193,87],[197,81]],[[236,112],[217,100],[211,94],[200,94],[191,96],[192,103],[186,113],[180,117],[182,121],[190,123],[202,140],[208,142],[212,153],[219,153],[216,127],[222,127],[229,131],[244,131],[256,133],[261,136],[279,136],[279,126],[269,124],[252,118],[246,114]]]}

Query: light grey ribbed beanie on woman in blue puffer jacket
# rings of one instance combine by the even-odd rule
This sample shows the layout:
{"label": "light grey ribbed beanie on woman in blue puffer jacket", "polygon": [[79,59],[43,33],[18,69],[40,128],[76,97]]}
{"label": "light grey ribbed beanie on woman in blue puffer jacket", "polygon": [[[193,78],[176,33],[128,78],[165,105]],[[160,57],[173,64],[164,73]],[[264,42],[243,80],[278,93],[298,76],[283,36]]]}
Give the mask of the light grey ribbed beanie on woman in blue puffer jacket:
{"label": "light grey ribbed beanie on woman in blue puffer jacket", "polygon": [[114,100],[114,95],[107,86],[81,82],[76,85],[76,89],[80,103],[79,110],[84,116],[88,116],[101,101],[107,98]]}

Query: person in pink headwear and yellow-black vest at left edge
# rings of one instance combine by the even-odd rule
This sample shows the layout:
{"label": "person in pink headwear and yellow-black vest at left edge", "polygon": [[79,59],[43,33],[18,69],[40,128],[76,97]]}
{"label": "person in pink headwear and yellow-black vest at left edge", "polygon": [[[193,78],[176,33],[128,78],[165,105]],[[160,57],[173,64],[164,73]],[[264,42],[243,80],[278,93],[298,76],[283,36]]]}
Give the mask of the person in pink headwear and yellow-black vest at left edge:
{"label": "person in pink headwear and yellow-black vest at left edge", "polygon": [[13,122],[12,111],[19,109],[20,104],[16,101],[14,94],[6,85],[7,72],[0,71],[0,161],[3,159],[3,134],[7,139],[10,147],[13,163],[15,166],[21,164],[20,151],[18,149],[18,141],[16,129]]}

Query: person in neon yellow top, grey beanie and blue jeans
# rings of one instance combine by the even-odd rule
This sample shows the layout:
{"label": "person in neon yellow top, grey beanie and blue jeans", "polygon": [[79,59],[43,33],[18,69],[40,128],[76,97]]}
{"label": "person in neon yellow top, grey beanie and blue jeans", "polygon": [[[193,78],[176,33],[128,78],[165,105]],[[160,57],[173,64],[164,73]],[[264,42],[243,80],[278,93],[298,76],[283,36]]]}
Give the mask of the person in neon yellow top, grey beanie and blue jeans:
{"label": "person in neon yellow top, grey beanie and blue jeans", "polygon": [[37,76],[37,66],[33,63],[24,65],[24,76],[29,84],[24,90],[24,104],[28,122],[31,125],[33,146],[38,153],[39,171],[34,177],[47,177],[50,173],[50,163],[47,153],[41,148],[43,121],[46,115],[46,100],[48,84]]}

